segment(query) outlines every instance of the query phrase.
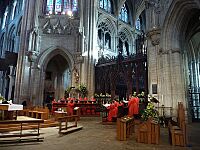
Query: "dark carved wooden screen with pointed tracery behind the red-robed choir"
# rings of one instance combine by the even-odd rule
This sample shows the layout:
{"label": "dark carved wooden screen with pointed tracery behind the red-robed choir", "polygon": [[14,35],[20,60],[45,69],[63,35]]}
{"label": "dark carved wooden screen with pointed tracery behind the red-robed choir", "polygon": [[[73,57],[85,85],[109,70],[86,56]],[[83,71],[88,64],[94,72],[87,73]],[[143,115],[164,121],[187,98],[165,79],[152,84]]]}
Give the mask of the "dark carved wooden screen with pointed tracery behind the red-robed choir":
{"label": "dark carved wooden screen with pointed tracery behind the red-robed choir", "polygon": [[126,99],[133,92],[148,93],[147,82],[147,55],[144,36],[136,39],[136,54],[110,59],[103,56],[95,66],[95,93],[111,94],[113,98]]}

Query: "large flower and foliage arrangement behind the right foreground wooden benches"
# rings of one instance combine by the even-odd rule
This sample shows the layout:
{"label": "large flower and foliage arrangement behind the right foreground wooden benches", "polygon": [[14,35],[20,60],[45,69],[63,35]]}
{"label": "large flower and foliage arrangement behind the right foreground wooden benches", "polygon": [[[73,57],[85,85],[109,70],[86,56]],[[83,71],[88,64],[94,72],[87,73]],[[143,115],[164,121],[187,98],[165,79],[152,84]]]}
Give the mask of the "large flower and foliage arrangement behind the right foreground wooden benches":
{"label": "large flower and foliage arrangement behind the right foreground wooden benches", "polygon": [[152,118],[155,122],[159,121],[158,111],[155,109],[152,102],[149,102],[147,108],[142,113],[142,119],[144,121]]}

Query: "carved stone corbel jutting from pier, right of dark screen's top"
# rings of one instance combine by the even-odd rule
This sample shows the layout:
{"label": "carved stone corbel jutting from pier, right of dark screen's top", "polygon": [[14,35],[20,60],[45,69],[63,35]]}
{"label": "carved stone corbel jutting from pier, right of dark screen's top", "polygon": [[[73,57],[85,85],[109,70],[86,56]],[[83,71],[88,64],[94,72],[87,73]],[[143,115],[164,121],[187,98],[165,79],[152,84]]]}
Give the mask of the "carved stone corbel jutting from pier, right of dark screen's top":
{"label": "carved stone corbel jutting from pier, right of dark screen's top", "polygon": [[147,37],[151,40],[153,46],[159,45],[160,43],[160,29],[153,28],[147,33]]}

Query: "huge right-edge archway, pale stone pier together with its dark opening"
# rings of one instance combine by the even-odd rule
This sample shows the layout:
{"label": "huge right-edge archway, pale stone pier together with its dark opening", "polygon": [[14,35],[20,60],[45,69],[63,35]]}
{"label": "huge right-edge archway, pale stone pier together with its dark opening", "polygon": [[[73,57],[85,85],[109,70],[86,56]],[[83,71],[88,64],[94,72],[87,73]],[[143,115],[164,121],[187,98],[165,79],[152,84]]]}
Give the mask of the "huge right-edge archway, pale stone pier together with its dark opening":
{"label": "huge right-edge archway, pale stone pier together with its dark opening", "polygon": [[[165,18],[160,49],[162,67],[160,67],[159,78],[164,101],[174,110],[178,102],[182,101],[188,119],[193,121],[200,120],[200,94],[191,95],[191,83],[194,80],[192,76],[195,75],[196,81],[200,78],[197,74],[198,63],[193,63],[192,58],[195,56],[199,59],[199,55],[194,54],[194,51],[199,51],[199,48],[194,50],[194,45],[191,45],[191,40],[199,43],[197,40],[199,39],[197,36],[200,25],[199,12],[200,7],[196,1],[173,1]],[[166,72],[170,72],[170,75],[165,74]]]}

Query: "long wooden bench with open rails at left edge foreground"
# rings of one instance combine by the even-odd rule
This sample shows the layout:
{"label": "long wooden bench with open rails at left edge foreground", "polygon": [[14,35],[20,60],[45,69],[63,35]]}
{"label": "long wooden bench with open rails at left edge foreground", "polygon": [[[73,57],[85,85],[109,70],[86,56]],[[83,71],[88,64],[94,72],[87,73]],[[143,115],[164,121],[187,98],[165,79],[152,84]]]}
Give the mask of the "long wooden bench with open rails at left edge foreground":
{"label": "long wooden bench with open rails at left edge foreground", "polygon": [[[44,139],[40,137],[40,123],[44,123],[44,120],[37,119],[37,120],[8,120],[8,121],[1,121],[0,124],[8,125],[19,125],[19,132],[18,133],[9,133],[3,132],[3,129],[0,129],[0,143],[8,143],[8,142],[22,142],[24,140],[37,140],[40,141]],[[37,133],[24,133],[24,128],[26,126],[32,126],[33,129],[37,129]],[[36,125],[36,126],[34,126]],[[27,138],[28,137],[28,138]]]}

